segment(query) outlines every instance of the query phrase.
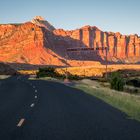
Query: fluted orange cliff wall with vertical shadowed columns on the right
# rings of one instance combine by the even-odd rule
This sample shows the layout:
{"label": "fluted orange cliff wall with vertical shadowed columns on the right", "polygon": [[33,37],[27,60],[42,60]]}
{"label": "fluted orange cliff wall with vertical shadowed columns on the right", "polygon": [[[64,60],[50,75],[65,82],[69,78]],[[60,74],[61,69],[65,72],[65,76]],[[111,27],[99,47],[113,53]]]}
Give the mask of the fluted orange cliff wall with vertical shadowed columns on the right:
{"label": "fluted orange cliff wall with vertical shadowed columns on the right", "polygon": [[[70,37],[70,46],[94,48],[105,59],[105,47],[108,47],[108,59],[112,62],[137,62],[140,59],[140,37],[122,35],[119,32],[103,32],[97,27],[85,26],[73,31],[54,30],[55,35]],[[132,59],[132,61],[131,61]]]}

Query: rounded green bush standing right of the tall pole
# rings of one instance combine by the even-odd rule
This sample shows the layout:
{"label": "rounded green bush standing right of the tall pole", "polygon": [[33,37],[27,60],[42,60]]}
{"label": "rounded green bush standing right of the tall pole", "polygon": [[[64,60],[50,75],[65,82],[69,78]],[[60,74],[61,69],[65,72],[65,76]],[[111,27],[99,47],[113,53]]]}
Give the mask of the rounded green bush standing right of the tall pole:
{"label": "rounded green bush standing right of the tall pole", "polygon": [[119,72],[113,72],[110,76],[110,85],[112,89],[123,91],[124,80]]}

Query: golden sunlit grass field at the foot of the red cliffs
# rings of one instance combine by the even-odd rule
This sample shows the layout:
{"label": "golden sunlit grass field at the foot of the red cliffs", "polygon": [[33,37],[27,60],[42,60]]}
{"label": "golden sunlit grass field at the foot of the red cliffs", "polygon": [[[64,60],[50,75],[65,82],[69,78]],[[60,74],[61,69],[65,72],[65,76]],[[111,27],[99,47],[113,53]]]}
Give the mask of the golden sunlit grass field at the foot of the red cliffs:
{"label": "golden sunlit grass field at the foot of the red cliffs", "polygon": [[[120,70],[120,69],[126,69],[126,70],[140,70],[140,65],[108,65],[108,72]],[[65,74],[66,68],[56,68],[56,71],[59,74]],[[106,66],[105,65],[91,65],[91,66],[80,66],[80,67],[68,67],[67,71],[72,75],[78,75],[78,76],[99,76],[102,77],[103,73],[106,72]],[[18,71],[21,74],[36,74],[38,70],[19,70]]]}

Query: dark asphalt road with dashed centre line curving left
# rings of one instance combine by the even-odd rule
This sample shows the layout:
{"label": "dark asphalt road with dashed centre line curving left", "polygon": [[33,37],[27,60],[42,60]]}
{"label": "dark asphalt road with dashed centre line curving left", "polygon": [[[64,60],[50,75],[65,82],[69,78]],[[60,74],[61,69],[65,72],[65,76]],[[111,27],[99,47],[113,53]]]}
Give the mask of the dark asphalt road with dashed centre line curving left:
{"label": "dark asphalt road with dashed centre line curving left", "polygon": [[60,83],[0,80],[0,140],[139,140],[140,123]]}

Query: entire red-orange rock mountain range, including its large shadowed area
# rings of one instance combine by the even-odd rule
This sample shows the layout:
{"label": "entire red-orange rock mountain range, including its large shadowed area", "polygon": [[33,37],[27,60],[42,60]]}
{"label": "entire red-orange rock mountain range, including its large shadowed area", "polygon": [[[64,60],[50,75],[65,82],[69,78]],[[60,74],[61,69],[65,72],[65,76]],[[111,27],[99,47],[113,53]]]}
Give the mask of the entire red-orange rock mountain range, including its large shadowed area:
{"label": "entire red-orange rock mountain range, including its large shadowed area", "polygon": [[[2,62],[59,66],[78,65],[81,60],[85,63],[103,63],[106,57],[105,47],[108,47],[107,56],[111,63],[140,61],[140,37],[136,34],[128,36],[103,32],[95,26],[65,31],[55,29],[42,17],[23,24],[0,25]],[[67,48],[94,50],[69,52]]]}

